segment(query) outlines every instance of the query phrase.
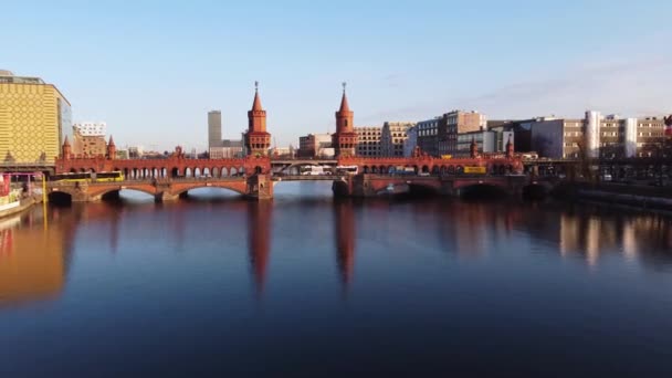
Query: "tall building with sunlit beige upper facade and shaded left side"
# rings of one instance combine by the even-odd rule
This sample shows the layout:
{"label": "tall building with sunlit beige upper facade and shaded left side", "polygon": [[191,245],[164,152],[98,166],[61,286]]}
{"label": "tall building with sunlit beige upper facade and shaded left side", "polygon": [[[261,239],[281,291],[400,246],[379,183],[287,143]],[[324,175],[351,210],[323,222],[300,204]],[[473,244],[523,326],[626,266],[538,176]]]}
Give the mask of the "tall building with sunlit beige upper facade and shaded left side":
{"label": "tall building with sunlit beige upper facade and shaded left side", "polygon": [[441,116],[437,129],[438,155],[458,154],[458,136],[460,134],[485,130],[487,117],[479,112],[452,111]]}

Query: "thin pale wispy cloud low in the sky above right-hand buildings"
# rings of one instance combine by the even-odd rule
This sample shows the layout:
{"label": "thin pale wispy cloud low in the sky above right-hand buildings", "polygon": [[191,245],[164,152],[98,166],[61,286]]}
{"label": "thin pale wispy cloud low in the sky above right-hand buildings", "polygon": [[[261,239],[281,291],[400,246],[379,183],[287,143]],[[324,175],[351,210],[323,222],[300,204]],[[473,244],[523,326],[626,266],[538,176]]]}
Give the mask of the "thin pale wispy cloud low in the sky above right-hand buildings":
{"label": "thin pale wispy cloud low in the sky above right-hand buildings", "polygon": [[575,116],[587,108],[640,116],[672,111],[672,59],[630,54],[630,61],[589,61],[545,77],[513,83],[472,97],[460,106],[494,116]]}

